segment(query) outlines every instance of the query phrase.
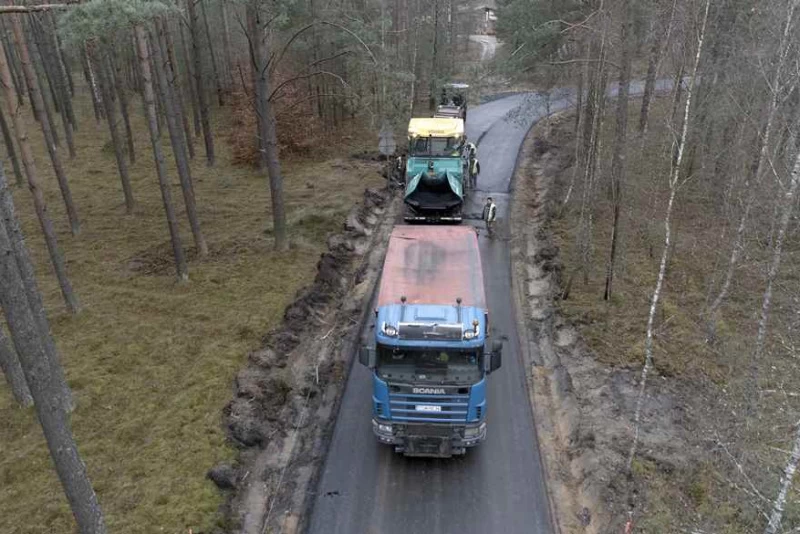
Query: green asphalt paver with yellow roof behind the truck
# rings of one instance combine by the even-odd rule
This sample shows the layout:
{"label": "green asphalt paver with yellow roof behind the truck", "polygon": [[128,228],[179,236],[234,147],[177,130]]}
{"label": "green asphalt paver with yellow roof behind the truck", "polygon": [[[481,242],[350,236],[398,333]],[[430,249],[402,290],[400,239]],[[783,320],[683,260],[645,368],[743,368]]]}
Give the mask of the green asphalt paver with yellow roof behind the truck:
{"label": "green asphalt paver with yellow roof behind the truck", "polygon": [[406,222],[461,222],[465,141],[461,119],[417,118],[408,123]]}

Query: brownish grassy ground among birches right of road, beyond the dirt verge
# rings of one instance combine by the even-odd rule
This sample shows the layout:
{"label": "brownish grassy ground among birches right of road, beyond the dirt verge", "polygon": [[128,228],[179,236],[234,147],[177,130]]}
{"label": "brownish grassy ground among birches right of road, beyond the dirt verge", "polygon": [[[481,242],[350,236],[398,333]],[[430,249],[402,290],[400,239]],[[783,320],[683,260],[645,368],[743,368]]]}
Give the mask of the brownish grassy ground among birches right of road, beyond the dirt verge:
{"label": "brownish grassy ground among birches right of road, beyond the dirt verge", "polygon": [[[613,110],[601,138],[601,178],[595,195],[586,283],[578,268],[577,246],[582,176],[577,177],[571,206],[554,222],[565,266],[564,281],[573,277],[569,298],[562,300],[560,307],[579,325],[596,358],[612,367],[640,369],[644,360],[649,301],[664,240],[669,104],[667,99],[657,103],[646,138],[641,138],[634,125],[631,127],[621,252],[610,302],[603,301],[603,290],[612,215],[607,176],[613,147]],[[631,113],[638,117],[633,115],[638,113],[638,104],[631,106]],[[713,160],[706,165],[713,169]],[[760,532],[800,417],[800,352],[796,348],[800,346],[796,268],[800,241],[797,229],[792,229],[776,285],[767,350],[757,362],[759,394],[749,386],[747,370],[752,364],[769,258],[771,209],[754,209],[757,215],[747,234],[747,251],[721,309],[716,342],[708,343],[704,311],[718,292],[738,208],[723,212],[715,198],[723,188],[710,181],[702,165],[698,163],[696,168],[696,175],[681,188],[676,200],[675,241],[655,339],[658,374],[674,380],[679,385],[676,390],[688,392],[678,401],[685,407],[687,421],[682,426],[691,433],[693,450],[687,451],[686,465],[677,470],[664,470],[647,459],[634,466],[644,503],[638,512],[637,532],[689,531],[690,526],[704,532]],[[573,172],[568,168],[557,179],[561,199]],[[747,413],[752,415],[748,417]],[[784,527],[788,532],[798,526],[800,494],[795,489],[788,498]]]}

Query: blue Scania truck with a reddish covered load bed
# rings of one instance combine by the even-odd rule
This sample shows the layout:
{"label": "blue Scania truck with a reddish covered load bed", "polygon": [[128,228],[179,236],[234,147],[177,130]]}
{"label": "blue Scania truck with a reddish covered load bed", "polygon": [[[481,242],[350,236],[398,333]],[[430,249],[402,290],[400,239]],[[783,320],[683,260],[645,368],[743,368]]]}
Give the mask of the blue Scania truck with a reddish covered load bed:
{"label": "blue Scania truck with a reddish covered load bed", "polygon": [[372,428],[406,456],[464,454],[486,437],[489,344],[478,239],[467,226],[397,226],[384,261],[372,370]]}

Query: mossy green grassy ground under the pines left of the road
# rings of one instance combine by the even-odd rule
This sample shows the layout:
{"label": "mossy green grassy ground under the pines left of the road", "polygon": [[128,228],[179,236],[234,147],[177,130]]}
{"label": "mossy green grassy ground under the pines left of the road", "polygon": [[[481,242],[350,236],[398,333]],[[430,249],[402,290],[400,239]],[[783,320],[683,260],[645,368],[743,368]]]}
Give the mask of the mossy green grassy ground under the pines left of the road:
{"label": "mossy green grassy ground under the pines left of the road", "polygon": [[[374,164],[346,157],[284,164],[293,246],[271,250],[269,189],[252,169],[233,167],[217,128],[217,159],[193,164],[197,204],[211,250],[192,258],[190,282],[177,285],[149,137],[133,102],[137,207],[124,214],[105,125],[79,98],[78,157],[67,163],[82,232],[69,234],[63,203],[31,120],[37,164],[59,230],[69,276],[83,310],[64,310],[26,188],[16,188],[28,246],[37,266],[55,339],[77,400],[75,437],[110,532],[197,533],[217,521],[220,495],[205,479],[232,457],[220,425],[231,380],[247,352],[277,326],[284,307],[315,275],[325,239],[365,187],[379,186]],[[217,113],[223,115],[223,113]],[[338,146],[340,153],[361,148]],[[171,158],[171,153],[167,153]],[[62,154],[66,159],[66,150]],[[172,161],[173,199],[182,205]],[[11,173],[10,166],[6,170]],[[13,176],[9,174],[13,181]],[[191,233],[180,212],[184,246]],[[32,410],[13,405],[0,384],[0,532],[71,532],[74,524]]]}

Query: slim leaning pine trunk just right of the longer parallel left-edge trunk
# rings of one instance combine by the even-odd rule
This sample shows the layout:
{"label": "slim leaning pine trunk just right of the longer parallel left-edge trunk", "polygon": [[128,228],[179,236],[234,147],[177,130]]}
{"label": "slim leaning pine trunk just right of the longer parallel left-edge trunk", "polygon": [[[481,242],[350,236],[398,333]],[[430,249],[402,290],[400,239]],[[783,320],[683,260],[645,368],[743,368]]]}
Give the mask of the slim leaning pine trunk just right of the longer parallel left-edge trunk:
{"label": "slim leaning pine trunk just right of the longer parallel left-edge trunk", "polygon": [[[39,90],[39,85],[36,81],[36,73],[34,72],[33,65],[31,64],[31,56],[28,52],[28,46],[25,43],[25,35],[22,31],[22,22],[20,21],[19,15],[12,14],[8,16],[11,18],[14,42],[22,60],[22,71],[25,74],[25,79],[28,82],[28,86],[30,87],[33,96],[33,107],[34,109],[38,108],[41,110],[43,109],[44,105],[42,93]],[[58,187],[61,189],[61,197],[64,199],[64,205],[67,209],[70,229],[72,230],[72,235],[78,235],[81,231],[81,224],[78,220],[78,212],[75,209],[75,203],[72,200],[72,192],[69,189],[66,172],[64,171],[64,166],[61,163],[61,157],[58,155],[58,150],[55,146],[53,128],[46,115],[40,114],[40,116],[42,119],[42,133],[44,134],[47,151],[50,154],[50,161],[53,163],[53,169],[55,170],[56,178],[58,179]]]}

